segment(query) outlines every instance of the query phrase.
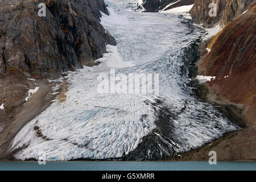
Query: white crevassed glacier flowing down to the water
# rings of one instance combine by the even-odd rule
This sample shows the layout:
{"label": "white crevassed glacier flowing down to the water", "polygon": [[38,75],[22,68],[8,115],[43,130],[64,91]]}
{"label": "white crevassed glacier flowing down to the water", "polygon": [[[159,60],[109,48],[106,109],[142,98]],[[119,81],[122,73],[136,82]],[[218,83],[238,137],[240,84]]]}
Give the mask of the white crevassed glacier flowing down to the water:
{"label": "white crevassed glacier flowing down to the water", "polygon": [[[129,1],[122,7],[111,2],[106,2],[110,16],[102,14],[101,23],[117,46],[107,46],[108,53],[97,60],[101,64],[68,74],[67,100],[54,101],[13,139],[9,150],[23,148],[16,159],[157,160],[238,129],[197,100],[189,86],[191,50],[204,32],[177,15],[138,13],[122,9]],[[99,78],[110,72],[155,74],[159,91],[101,93]]]}

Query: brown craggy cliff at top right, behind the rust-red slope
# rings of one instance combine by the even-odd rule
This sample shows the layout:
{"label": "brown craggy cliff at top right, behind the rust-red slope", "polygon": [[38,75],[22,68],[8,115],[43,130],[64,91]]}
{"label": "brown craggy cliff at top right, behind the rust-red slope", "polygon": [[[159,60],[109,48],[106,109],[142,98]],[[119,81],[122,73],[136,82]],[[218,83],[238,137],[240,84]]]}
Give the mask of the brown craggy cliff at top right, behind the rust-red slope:
{"label": "brown craggy cliff at top right, behind the rust-red slope", "polygon": [[[209,8],[210,3],[216,3],[216,16],[209,15],[209,11],[212,9],[212,7]],[[221,26],[225,26],[248,10],[253,3],[255,0],[195,0],[190,14],[193,22],[204,24],[206,28],[219,23]]]}

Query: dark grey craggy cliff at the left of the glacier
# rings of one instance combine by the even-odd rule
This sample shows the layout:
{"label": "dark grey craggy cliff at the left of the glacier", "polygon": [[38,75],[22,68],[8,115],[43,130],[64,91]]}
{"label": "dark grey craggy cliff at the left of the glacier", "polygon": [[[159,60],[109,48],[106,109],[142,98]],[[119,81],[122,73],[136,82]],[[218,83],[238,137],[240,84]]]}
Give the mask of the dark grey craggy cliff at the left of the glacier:
{"label": "dark grey craggy cliff at the left of the glacier", "polygon": [[0,2],[0,77],[16,69],[35,78],[74,71],[115,44],[100,22],[108,14],[103,0],[47,0],[46,17],[39,2]]}

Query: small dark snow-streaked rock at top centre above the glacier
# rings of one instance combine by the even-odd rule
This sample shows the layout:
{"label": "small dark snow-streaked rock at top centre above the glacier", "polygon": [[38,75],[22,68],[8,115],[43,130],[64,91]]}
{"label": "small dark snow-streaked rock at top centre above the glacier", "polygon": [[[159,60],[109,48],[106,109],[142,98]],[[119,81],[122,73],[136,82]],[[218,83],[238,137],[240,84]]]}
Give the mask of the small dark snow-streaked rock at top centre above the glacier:
{"label": "small dark snow-streaked rock at top centre above the glacier", "polygon": [[143,7],[147,12],[158,12],[163,10],[167,5],[170,5],[171,3],[177,2],[174,5],[167,7],[166,10],[170,10],[179,6],[192,5],[194,1],[195,0],[144,0]]}

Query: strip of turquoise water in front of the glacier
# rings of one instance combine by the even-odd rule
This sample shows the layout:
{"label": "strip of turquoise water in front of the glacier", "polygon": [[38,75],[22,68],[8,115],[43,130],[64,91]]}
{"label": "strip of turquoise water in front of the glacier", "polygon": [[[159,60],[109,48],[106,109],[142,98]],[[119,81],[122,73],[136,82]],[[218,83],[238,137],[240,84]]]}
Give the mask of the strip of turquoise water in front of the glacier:
{"label": "strip of turquoise water in front of the glacier", "polygon": [[0,171],[255,171],[256,162],[0,162]]}

